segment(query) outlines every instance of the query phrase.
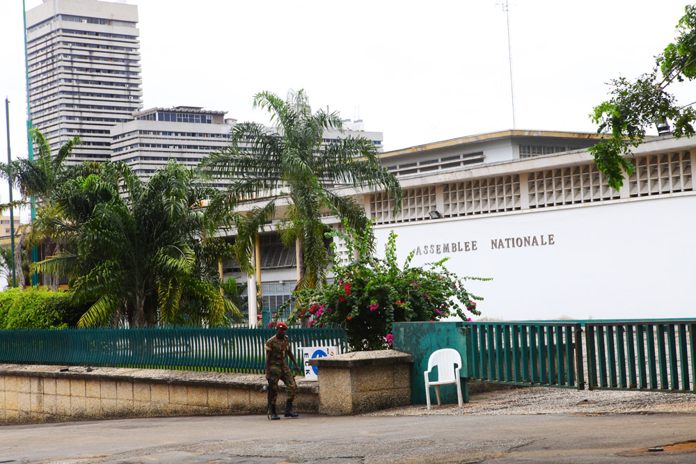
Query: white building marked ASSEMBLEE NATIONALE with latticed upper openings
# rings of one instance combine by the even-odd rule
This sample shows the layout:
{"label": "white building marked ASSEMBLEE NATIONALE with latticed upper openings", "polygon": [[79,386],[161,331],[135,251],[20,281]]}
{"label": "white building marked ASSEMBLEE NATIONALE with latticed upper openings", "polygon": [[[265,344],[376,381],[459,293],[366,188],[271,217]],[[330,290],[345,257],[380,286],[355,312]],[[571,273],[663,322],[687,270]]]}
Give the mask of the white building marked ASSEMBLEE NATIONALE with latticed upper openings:
{"label": "white building marked ASSEMBLEE NATIONALE with latticed upper openings", "polygon": [[[696,140],[642,143],[636,173],[613,191],[582,148],[554,152],[596,139],[500,131],[387,152],[382,163],[397,166],[404,190],[400,213],[381,193],[356,198],[375,221],[378,250],[394,230],[400,260],[415,250],[413,264],[449,257],[458,275],[493,278],[467,285],[485,298],[483,316],[693,317]],[[292,285],[295,275],[266,271],[262,282]]]}

